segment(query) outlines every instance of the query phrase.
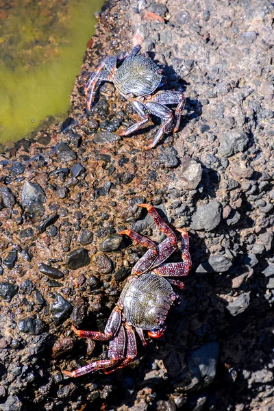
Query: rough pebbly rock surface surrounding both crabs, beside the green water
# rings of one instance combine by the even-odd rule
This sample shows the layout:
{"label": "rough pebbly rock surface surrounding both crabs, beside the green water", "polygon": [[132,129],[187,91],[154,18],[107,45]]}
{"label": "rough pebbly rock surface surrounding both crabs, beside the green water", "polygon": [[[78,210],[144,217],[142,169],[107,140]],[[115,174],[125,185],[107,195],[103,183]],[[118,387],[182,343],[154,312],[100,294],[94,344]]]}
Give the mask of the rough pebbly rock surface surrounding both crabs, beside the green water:
{"label": "rough pebbly rock surface surrounding both crabs, beside the green water", "polygon": [[[261,410],[273,388],[273,4],[107,1],[71,95],[71,112],[0,155],[0,409]],[[183,88],[179,132],[144,147],[159,123],[138,120],[102,84],[102,55],[142,51]],[[193,268],[164,337],[110,375],[70,379],[106,358],[100,329],[145,252],[118,233],[160,242],[138,203],[186,227]],[[172,261],[179,260],[175,255]]]}

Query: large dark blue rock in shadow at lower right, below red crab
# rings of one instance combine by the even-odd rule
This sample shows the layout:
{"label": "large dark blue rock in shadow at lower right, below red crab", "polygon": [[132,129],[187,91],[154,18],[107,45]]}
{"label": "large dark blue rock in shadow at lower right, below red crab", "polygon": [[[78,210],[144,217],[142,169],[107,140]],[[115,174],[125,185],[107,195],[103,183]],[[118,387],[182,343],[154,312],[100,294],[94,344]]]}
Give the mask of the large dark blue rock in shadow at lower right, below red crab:
{"label": "large dark blue rock in shadow at lower right, below red crab", "polygon": [[188,355],[188,369],[203,385],[212,383],[216,375],[216,365],[219,357],[219,343],[206,343]]}

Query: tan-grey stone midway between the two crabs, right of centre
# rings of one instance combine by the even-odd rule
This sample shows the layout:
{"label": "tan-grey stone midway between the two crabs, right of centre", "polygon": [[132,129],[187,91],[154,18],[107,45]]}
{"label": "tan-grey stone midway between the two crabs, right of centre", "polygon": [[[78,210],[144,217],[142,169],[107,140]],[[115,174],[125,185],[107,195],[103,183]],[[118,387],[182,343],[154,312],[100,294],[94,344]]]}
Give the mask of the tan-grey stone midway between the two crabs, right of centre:
{"label": "tan-grey stone midway between the two crabs, right of centre", "polygon": [[178,171],[179,173],[175,173],[178,179],[175,187],[182,186],[184,190],[195,190],[201,181],[201,164],[190,157],[183,157]]}

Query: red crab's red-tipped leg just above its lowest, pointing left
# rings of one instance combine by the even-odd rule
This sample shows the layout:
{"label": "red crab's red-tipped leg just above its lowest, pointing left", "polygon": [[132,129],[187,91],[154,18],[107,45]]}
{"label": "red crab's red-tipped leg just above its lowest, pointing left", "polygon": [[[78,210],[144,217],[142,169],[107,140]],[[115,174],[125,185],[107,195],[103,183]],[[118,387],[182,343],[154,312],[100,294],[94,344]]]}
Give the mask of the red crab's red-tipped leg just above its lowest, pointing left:
{"label": "red crab's red-tipped leg just above its lowest, pointing left", "polygon": [[105,332],[99,331],[84,331],[82,329],[76,329],[73,326],[73,331],[77,336],[84,338],[92,338],[92,340],[110,340],[119,330],[122,321],[121,310],[118,307],[115,307],[110,314],[108,323],[105,325]]}

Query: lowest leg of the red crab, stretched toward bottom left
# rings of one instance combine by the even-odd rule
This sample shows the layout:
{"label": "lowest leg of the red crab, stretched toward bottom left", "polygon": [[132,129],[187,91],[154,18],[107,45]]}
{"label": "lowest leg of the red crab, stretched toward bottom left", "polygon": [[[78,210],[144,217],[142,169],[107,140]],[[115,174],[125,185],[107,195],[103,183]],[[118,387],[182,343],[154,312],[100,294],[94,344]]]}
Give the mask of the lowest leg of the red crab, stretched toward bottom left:
{"label": "lowest leg of the red crab, stretched toward bottom left", "polygon": [[82,366],[74,371],[63,371],[69,377],[79,377],[80,375],[88,374],[93,371],[99,371],[114,366],[120,360],[123,360],[125,355],[125,328],[120,327],[118,334],[110,340],[110,347],[108,349],[108,360],[99,360],[91,362],[91,364]]}

